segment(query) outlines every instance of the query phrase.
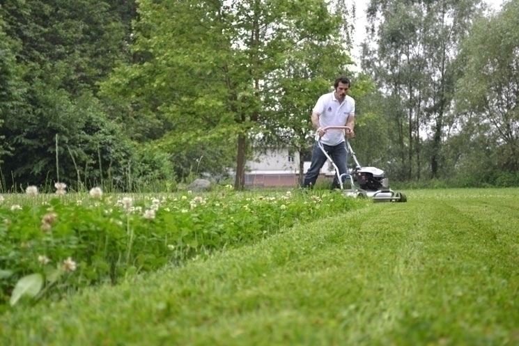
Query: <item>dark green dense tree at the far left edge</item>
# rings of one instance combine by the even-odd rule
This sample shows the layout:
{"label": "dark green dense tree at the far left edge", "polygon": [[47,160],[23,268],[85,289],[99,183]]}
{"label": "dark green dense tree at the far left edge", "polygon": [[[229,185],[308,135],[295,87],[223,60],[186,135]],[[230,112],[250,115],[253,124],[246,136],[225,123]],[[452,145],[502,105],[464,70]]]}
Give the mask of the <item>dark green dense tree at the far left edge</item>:
{"label": "dark green dense tree at the far left edge", "polygon": [[1,42],[11,47],[10,58],[2,59],[10,66],[6,85],[19,85],[10,88],[18,107],[3,103],[0,128],[10,146],[3,164],[10,185],[74,181],[79,164],[86,171],[100,161],[100,149],[88,146],[99,143],[102,129],[118,136],[95,97],[96,83],[126,56],[125,25],[111,9],[107,1],[3,1],[7,40]]}

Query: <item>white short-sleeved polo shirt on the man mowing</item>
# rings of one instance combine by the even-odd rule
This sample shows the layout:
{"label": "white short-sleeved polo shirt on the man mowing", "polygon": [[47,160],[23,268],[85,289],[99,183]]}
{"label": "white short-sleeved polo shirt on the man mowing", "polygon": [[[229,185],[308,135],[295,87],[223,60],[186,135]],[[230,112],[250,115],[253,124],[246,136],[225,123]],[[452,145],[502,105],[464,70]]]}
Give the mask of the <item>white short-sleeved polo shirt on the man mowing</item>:
{"label": "white short-sleeved polo shirt on the man mowing", "polygon": [[[319,114],[319,126],[345,126],[348,116],[355,117],[355,100],[346,95],[341,104],[335,98],[335,92],[327,93],[319,97],[313,112]],[[321,143],[327,146],[336,146],[344,141],[344,131],[342,129],[328,129]]]}

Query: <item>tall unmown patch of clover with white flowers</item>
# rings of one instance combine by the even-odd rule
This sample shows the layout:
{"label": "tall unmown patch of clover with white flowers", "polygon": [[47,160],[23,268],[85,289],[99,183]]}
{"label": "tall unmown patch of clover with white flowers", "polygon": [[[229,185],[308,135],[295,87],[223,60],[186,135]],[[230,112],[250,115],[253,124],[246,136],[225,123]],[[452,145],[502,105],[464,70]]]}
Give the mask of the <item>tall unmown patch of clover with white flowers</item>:
{"label": "tall unmown patch of clover with white flowers", "polygon": [[59,298],[362,203],[329,191],[244,196],[230,185],[211,194],[103,196],[94,189],[91,196],[0,198],[0,306],[16,304],[24,295],[17,292],[34,285],[31,297]]}

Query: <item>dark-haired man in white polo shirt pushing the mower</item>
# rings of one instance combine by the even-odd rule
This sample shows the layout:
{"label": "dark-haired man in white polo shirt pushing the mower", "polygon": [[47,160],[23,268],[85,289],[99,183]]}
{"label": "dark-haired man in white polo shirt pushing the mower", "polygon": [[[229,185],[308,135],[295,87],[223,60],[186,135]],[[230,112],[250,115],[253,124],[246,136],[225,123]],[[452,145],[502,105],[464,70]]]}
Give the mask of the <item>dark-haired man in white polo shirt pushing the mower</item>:
{"label": "dark-haired man in white polo shirt pushing the mower", "polygon": [[[348,126],[350,131],[346,131],[348,138],[353,138],[355,132],[355,100],[348,96],[350,91],[350,80],[346,77],[339,77],[335,80],[335,90],[332,93],[322,95],[313,107],[311,121],[313,127],[320,136],[323,147],[337,168],[339,175],[346,173],[348,162],[348,152],[344,141],[345,131],[342,129],[323,130],[327,126]],[[307,174],[304,176],[303,187],[313,187],[316,184],[320,168],[323,168],[327,158],[316,143],[313,144],[312,162]],[[334,179],[332,188],[340,187],[337,178]]]}

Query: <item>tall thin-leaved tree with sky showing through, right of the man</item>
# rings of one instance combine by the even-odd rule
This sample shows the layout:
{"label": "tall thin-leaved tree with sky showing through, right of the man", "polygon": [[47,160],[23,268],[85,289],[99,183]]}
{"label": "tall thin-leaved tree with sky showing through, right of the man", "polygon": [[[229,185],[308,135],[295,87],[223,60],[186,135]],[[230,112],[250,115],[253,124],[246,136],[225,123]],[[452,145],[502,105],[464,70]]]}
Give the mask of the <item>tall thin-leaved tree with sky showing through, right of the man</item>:
{"label": "tall thin-leaved tree with sky showing through, right of the man", "polygon": [[363,66],[387,95],[387,116],[396,125],[400,178],[421,177],[422,139],[433,147],[429,172],[440,168],[446,118],[458,75],[458,45],[479,13],[477,0],[372,0],[371,31],[376,47],[364,45]]}

